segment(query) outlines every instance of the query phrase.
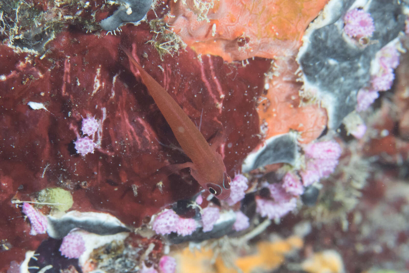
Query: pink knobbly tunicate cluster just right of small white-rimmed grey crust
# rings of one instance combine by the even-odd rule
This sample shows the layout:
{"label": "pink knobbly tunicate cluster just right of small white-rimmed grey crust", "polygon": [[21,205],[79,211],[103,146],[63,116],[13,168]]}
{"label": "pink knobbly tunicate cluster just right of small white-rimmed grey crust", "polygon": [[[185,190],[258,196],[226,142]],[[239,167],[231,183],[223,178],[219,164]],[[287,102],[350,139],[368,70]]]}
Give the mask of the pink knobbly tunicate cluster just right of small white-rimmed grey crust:
{"label": "pink knobbly tunicate cluster just right of small white-rimmed grey crust", "polygon": [[306,168],[301,172],[303,185],[310,186],[334,172],[341,156],[341,146],[335,141],[310,143],[304,147]]}

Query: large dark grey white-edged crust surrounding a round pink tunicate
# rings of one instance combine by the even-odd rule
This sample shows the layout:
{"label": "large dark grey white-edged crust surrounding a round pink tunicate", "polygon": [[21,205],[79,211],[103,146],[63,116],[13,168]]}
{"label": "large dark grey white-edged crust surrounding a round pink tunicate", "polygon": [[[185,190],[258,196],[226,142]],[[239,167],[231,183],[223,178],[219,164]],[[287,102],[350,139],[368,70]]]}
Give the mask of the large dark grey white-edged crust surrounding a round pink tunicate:
{"label": "large dark grey white-edged crust surrounding a round pink tunicate", "polygon": [[[375,31],[366,45],[344,33],[344,16],[352,8],[369,12]],[[371,60],[405,27],[403,4],[373,0],[331,0],[311,23],[297,56],[304,94],[321,99],[328,113],[328,128],[336,129],[355,109],[357,91],[370,80]]]}

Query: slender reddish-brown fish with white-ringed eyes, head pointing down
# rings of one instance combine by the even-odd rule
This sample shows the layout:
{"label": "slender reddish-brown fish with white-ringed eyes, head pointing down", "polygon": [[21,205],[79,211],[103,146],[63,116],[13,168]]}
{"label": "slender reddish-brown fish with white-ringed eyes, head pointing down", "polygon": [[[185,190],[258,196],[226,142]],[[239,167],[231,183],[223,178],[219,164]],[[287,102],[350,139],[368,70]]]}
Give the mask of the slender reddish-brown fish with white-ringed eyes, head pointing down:
{"label": "slender reddish-brown fish with white-ringed eyes, head pointing down", "polygon": [[139,65],[127,49],[122,46],[121,49],[139,70],[149,94],[169,123],[183,151],[192,161],[176,164],[174,167],[176,169],[190,168],[193,178],[218,199],[229,197],[231,178],[227,175],[220,154],[210,147],[196,125],[171,95]]}

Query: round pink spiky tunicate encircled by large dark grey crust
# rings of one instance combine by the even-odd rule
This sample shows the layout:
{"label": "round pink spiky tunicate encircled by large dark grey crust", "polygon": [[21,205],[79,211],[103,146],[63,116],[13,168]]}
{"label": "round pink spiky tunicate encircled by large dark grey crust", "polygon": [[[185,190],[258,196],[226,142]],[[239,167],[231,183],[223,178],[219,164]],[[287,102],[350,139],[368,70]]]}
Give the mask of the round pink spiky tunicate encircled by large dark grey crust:
{"label": "round pink spiky tunicate encircled by large dark grey crust", "polygon": [[344,16],[344,31],[351,38],[371,37],[375,31],[371,14],[362,9],[351,9]]}

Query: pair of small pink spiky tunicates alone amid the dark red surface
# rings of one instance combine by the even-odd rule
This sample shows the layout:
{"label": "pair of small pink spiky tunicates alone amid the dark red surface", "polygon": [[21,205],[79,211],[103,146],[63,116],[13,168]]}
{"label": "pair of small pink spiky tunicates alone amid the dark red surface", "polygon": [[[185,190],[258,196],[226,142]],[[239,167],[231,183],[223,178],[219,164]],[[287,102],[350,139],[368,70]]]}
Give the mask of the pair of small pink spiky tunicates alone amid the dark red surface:
{"label": "pair of small pink spiky tunicates alone amid the dark red surface", "polygon": [[[97,147],[97,144],[94,143],[94,135],[99,129],[99,123],[95,117],[88,117],[82,120],[81,131],[83,134],[87,134],[88,137],[78,136],[75,144],[75,150],[84,156],[85,154],[94,153],[94,148]],[[77,133],[78,134],[78,133]]]}

